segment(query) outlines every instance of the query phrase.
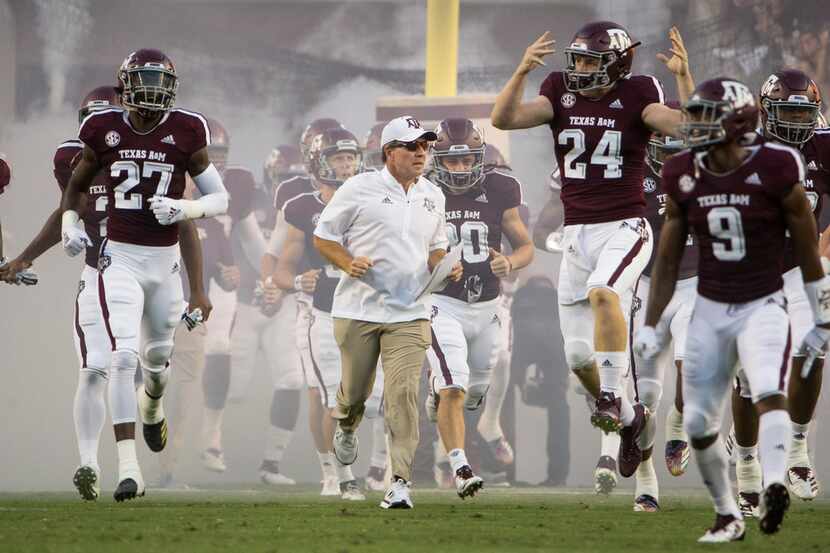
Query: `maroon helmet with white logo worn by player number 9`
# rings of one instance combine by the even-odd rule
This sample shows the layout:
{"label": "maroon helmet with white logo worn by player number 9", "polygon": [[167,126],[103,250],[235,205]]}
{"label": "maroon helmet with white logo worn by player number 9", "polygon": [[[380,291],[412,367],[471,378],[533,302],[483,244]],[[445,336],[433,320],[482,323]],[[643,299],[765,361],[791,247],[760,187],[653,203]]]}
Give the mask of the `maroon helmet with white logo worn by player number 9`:
{"label": "maroon helmet with white logo worn by player number 9", "polygon": [[686,147],[698,149],[740,140],[757,124],[758,107],[749,87],[718,77],[697,85],[683,106],[680,132]]}

